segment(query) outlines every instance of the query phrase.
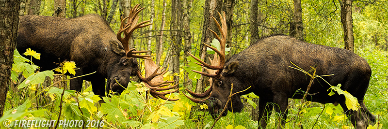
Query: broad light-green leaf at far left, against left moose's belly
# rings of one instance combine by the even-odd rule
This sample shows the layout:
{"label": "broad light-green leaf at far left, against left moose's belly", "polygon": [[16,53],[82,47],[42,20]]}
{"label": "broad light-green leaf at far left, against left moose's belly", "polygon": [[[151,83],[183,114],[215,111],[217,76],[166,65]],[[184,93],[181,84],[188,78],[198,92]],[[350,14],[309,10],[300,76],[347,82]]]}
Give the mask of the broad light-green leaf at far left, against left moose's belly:
{"label": "broad light-green leaf at far left, against left moose's belly", "polygon": [[20,89],[20,88],[24,88],[28,85],[36,85],[39,83],[43,83],[45,81],[46,76],[49,76],[51,79],[53,79],[54,78],[53,74],[54,74],[54,72],[52,72],[52,71],[38,72],[36,74],[29,76],[19,86],[17,86],[17,88]]}

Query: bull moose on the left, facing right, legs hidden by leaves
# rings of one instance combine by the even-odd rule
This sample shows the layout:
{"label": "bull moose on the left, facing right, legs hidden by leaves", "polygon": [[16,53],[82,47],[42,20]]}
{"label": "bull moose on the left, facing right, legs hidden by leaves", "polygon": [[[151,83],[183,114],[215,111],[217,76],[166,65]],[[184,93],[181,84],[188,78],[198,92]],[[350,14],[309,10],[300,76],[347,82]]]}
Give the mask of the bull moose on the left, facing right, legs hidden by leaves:
{"label": "bull moose on the left, facing right, legs hidden by leaves", "polygon": [[[34,60],[41,70],[55,69],[58,67],[56,63],[67,60],[75,61],[79,68],[76,74],[70,77],[96,72],[71,79],[70,89],[72,90],[81,91],[82,80],[87,80],[92,83],[93,92],[100,97],[105,96],[105,90],[122,92],[124,90],[122,86],[127,86],[130,76],[141,75],[138,73],[136,58],[150,59],[151,57],[136,55],[150,51],[129,49],[129,37],[132,32],[152,24],[146,24],[151,20],[137,23],[139,20],[137,15],[144,9],[139,6],[140,4],[134,6],[128,17],[121,17],[117,35],[109,27],[108,22],[97,14],[71,19],[38,15],[21,16],[16,48],[18,50],[31,48],[41,53],[41,59]],[[106,89],[104,89],[105,78],[108,79]],[[141,79],[150,83],[147,80],[152,78]],[[157,84],[163,83],[168,82]],[[157,84],[147,86],[157,86]],[[154,97],[166,99],[160,92],[153,91],[151,94]]]}

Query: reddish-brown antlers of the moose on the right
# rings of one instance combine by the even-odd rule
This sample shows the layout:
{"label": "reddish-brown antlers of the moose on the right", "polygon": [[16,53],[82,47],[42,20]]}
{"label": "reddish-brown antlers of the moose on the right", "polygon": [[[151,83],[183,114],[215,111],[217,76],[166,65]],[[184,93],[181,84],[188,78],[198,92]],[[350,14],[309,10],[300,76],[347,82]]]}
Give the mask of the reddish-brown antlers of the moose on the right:
{"label": "reddish-brown antlers of the moose on the right", "polygon": [[[191,57],[193,57],[195,60],[200,62],[200,63],[196,63],[196,62],[195,63],[202,66],[202,68],[204,68],[209,73],[199,72],[199,71],[194,71],[194,70],[192,70],[192,71],[197,72],[199,74],[202,74],[204,76],[210,77],[210,79],[209,79],[210,88],[202,94],[194,93],[193,91],[190,91],[189,89],[186,88],[186,91],[189,92],[189,94],[192,95],[193,97],[205,98],[208,96],[206,99],[198,100],[198,99],[191,98],[191,97],[187,96],[186,94],[184,94],[188,99],[192,100],[195,103],[203,103],[203,102],[205,102],[205,100],[209,99],[209,97],[211,95],[211,91],[213,90],[213,88],[211,86],[212,78],[214,78],[214,77],[221,78],[221,72],[224,69],[224,65],[225,65],[225,47],[226,47],[226,35],[227,35],[227,27],[226,27],[226,20],[225,20],[226,16],[225,16],[225,12],[223,13],[223,16],[220,14],[220,12],[217,12],[217,13],[220,16],[222,27],[220,26],[218,21],[213,16],[211,18],[213,18],[214,22],[217,24],[218,29],[221,31],[222,37],[220,38],[217,35],[217,33],[214,32],[213,30],[211,30],[211,29],[209,29],[209,30],[214,34],[214,37],[220,42],[220,51],[217,50],[215,47],[212,47],[212,46],[204,43],[204,45],[206,45],[207,47],[209,47],[210,49],[215,51],[214,58],[213,59],[209,58],[211,65],[205,63],[201,59],[195,57],[194,55],[192,55],[191,53],[188,52],[188,54]],[[217,56],[217,55],[219,55],[219,56]]]}

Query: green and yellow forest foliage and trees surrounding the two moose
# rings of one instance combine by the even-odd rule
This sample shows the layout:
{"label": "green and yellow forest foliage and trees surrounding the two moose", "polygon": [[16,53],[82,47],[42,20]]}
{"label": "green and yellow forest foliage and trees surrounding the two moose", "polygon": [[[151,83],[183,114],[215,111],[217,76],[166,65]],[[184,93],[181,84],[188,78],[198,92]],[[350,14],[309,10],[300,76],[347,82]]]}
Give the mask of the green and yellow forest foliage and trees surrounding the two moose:
{"label": "green and yellow forest foliage and trees surrounding the two moose", "polygon": [[[206,50],[202,43],[213,40],[208,28],[217,30],[210,16],[216,11],[225,11],[229,34],[227,47],[230,48],[226,57],[271,34],[286,34],[307,43],[348,49],[352,49],[351,44],[354,43],[354,52],[365,58],[372,68],[365,104],[378,118],[380,127],[388,128],[388,1],[385,0],[21,0],[19,15],[74,18],[99,14],[117,32],[120,16],[127,16],[130,6],[138,3],[145,7],[139,14],[140,20],[151,19],[153,25],[136,30],[130,47],[152,51],[153,60],[170,71],[164,78],[179,81],[180,92],[171,97],[181,100],[148,100],[145,90],[140,88],[141,84],[133,82],[122,95],[98,105],[95,103],[99,98],[90,92],[89,82],[85,81],[81,93],[62,90],[60,86],[41,85],[46,74],[51,72],[37,74],[34,72],[37,67],[31,62],[32,57],[35,58],[34,53],[18,50],[20,54],[26,52],[25,55],[32,57],[20,60],[20,54],[14,53],[13,83],[8,87],[0,122],[5,119],[97,119],[106,121],[104,127],[118,129],[208,129],[214,120],[205,111],[206,105],[195,104],[182,95],[186,87],[197,93],[209,88],[207,78],[191,71],[201,71],[201,67],[195,65],[194,59],[186,53],[191,52],[208,61],[206,58],[211,57],[212,52]],[[349,9],[346,6],[351,7],[353,20],[350,24],[353,28],[351,42],[349,38],[344,38],[349,31],[344,33],[341,22],[341,17],[346,18],[342,11]],[[21,64],[26,60],[31,65]],[[144,60],[139,59],[138,62],[141,68],[144,67]],[[35,76],[36,81],[17,86],[15,74],[23,71],[26,78]],[[215,123],[215,128],[257,128],[258,97],[248,94],[242,99],[244,111],[228,113]],[[341,107],[333,104],[290,99],[289,111],[286,129],[353,128]],[[276,128],[274,117],[271,117],[268,128]]]}

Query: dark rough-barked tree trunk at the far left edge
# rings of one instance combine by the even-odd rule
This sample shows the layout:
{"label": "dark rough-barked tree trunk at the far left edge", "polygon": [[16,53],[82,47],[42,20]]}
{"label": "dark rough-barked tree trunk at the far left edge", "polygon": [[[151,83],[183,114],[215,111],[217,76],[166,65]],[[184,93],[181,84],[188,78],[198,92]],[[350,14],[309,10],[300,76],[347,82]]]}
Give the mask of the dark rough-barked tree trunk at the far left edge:
{"label": "dark rough-barked tree trunk at the far left edge", "polygon": [[0,0],[0,117],[3,116],[14,63],[20,0]]}

